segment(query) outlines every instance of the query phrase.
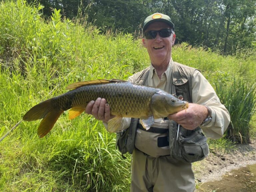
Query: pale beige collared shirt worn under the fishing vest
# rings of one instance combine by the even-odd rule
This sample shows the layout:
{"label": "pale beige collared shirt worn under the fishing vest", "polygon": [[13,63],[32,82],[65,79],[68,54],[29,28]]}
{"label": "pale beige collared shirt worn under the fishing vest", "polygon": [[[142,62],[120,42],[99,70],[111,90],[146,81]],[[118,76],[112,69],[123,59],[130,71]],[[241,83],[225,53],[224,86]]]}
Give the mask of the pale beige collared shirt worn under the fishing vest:
{"label": "pale beige collared shirt worn under the fishing vest", "polygon": [[[172,73],[172,59],[170,60],[167,70],[162,74],[161,79],[159,79],[155,68],[150,66],[148,85],[156,88],[163,89],[169,92],[170,83],[172,83],[171,73]],[[129,77],[128,81],[134,82],[133,76]],[[215,93],[211,84],[206,80],[206,78],[200,73],[200,71],[195,70],[192,80],[192,102],[200,105],[206,105],[212,110],[212,121],[205,127],[201,127],[207,137],[218,139],[223,136],[225,129],[228,127],[230,122],[230,115],[223,104]],[[162,119],[155,119],[155,122],[162,121]],[[119,129],[115,132],[124,130],[130,126],[131,118],[123,118],[122,124]],[[108,126],[104,123],[106,129]]]}

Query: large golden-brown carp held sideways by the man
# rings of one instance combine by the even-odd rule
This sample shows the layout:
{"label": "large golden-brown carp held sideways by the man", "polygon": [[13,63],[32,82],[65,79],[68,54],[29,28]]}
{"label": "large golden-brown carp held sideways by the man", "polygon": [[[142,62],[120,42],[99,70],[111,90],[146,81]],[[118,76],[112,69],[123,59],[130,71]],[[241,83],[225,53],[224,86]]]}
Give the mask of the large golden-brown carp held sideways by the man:
{"label": "large golden-brown carp held sideways by the man", "polygon": [[148,130],[154,119],[188,108],[188,102],[161,89],[118,79],[76,82],[66,89],[69,91],[35,105],[23,116],[24,121],[43,119],[37,129],[39,138],[50,132],[64,111],[69,110],[69,119],[74,119],[85,111],[91,100],[98,97],[106,99],[114,116],[109,121],[109,127],[113,128],[109,132],[120,126],[123,117],[139,118]]}

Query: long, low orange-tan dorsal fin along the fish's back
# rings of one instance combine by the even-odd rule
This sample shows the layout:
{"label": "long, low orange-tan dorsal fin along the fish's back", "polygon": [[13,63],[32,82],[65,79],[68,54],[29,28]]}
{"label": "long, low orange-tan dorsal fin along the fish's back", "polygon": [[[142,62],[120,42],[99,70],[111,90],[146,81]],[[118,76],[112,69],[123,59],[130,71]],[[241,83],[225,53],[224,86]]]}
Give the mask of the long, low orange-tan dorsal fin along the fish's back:
{"label": "long, low orange-tan dorsal fin along the fish's back", "polygon": [[76,83],[72,83],[72,84],[68,85],[66,89],[72,90],[72,89],[77,89],[79,87],[83,87],[83,86],[87,86],[87,85],[120,83],[120,82],[127,82],[127,81],[119,80],[119,79],[112,79],[112,80],[97,79],[97,80],[92,80],[92,81],[81,81],[81,82],[76,82]]}

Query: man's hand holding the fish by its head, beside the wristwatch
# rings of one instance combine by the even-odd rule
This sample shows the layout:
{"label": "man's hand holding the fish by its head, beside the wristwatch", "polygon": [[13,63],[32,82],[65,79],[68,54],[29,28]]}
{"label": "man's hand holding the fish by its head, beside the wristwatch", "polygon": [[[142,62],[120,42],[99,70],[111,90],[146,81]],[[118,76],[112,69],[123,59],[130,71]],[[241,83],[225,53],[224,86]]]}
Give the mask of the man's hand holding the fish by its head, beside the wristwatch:
{"label": "man's hand holding the fish by its head, beside the wristwatch", "polygon": [[188,108],[169,115],[168,118],[176,121],[185,129],[193,130],[206,119],[208,110],[203,105],[189,103]]}

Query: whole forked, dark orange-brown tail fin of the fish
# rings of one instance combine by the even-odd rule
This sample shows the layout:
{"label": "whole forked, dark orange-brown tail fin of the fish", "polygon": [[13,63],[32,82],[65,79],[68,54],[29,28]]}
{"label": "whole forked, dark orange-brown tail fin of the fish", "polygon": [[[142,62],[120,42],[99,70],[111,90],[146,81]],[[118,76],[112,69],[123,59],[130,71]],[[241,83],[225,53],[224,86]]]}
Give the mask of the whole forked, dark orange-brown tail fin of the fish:
{"label": "whole forked, dark orange-brown tail fin of the fish", "polygon": [[42,138],[45,136],[54,126],[59,116],[64,111],[56,109],[51,104],[51,99],[48,99],[42,103],[32,107],[24,116],[25,121],[34,121],[37,119],[43,119],[37,129],[37,135]]}

